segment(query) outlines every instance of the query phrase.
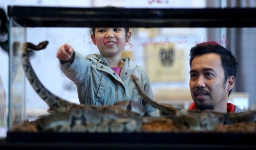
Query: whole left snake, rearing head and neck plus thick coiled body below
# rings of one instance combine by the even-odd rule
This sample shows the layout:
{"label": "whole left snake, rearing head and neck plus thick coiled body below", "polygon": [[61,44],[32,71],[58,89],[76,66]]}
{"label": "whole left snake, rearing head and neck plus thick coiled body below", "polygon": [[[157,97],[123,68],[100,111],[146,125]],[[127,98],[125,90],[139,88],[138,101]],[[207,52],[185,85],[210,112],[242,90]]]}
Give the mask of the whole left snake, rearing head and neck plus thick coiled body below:
{"label": "whole left snake, rearing head and neck plus thick coiled body below", "polygon": [[[22,47],[22,65],[26,77],[34,91],[49,106],[50,115],[35,121],[40,131],[140,131],[141,116],[146,114],[146,109],[134,101],[119,102],[113,106],[79,105],[49,91],[36,76],[29,60],[30,50],[39,51],[45,49],[48,44],[48,41],[42,41],[38,45],[25,42]],[[108,130],[103,130],[103,127]]]}

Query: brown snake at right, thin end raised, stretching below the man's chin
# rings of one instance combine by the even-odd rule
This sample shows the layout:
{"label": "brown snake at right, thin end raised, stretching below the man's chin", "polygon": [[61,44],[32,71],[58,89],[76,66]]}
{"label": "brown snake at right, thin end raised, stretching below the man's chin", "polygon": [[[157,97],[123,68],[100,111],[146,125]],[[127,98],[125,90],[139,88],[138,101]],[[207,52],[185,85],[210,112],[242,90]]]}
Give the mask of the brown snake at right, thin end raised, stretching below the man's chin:
{"label": "brown snake at right, thin end raised, stretching below the man's chin", "polygon": [[256,111],[240,113],[221,113],[213,110],[189,110],[188,114],[181,115],[180,111],[172,105],[159,104],[147,96],[138,84],[138,79],[132,74],[131,78],[139,94],[148,104],[169,114],[177,126],[187,126],[193,130],[212,130],[220,124],[235,124],[238,122],[256,122]]}

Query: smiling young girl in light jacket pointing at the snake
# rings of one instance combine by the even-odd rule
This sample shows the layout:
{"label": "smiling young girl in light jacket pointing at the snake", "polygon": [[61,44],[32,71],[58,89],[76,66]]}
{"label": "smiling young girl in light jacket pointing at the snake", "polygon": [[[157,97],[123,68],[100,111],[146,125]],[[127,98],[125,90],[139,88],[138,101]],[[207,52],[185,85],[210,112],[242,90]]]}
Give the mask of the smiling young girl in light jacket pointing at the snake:
{"label": "smiling young girl in light jacket pointing at the snake", "polygon": [[131,74],[134,74],[141,89],[155,99],[146,70],[129,57],[121,58],[125,44],[132,37],[129,28],[93,28],[91,32],[100,55],[84,58],[68,43],[60,46],[56,55],[61,70],[76,84],[80,103],[102,106],[123,100],[136,101],[156,116],[155,109],[142,101],[131,80]]}

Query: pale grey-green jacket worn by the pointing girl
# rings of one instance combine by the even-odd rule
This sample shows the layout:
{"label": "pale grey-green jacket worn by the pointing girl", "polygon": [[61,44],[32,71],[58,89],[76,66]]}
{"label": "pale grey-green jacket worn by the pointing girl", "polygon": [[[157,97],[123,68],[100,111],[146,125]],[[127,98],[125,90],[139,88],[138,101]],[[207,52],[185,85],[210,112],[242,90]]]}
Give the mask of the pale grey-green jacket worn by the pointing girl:
{"label": "pale grey-green jacket worn by the pointing girl", "polygon": [[120,77],[108,61],[98,54],[84,58],[75,52],[74,62],[60,63],[60,68],[76,84],[80,104],[102,106],[129,100],[144,105],[150,113],[155,111],[153,107],[142,103],[142,98],[131,80],[131,74],[134,74],[144,93],[155,100],[146,70],[134,64],[130,58],[123,60],[125,63]]}

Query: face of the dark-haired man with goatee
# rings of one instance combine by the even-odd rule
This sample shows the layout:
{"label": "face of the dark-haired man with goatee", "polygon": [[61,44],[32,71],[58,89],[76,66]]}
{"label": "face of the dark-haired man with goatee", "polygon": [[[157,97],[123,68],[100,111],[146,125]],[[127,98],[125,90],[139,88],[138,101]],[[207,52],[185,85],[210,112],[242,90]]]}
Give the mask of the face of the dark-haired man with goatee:
{"label": "face of the dark-haired man with goatee", "polygon": [[225,82],[221,57],[215,53],[199,55],[194,58],[190,68],[189,87],[193,101],[198,109],[217,109],[226,107],[228,80]]}

